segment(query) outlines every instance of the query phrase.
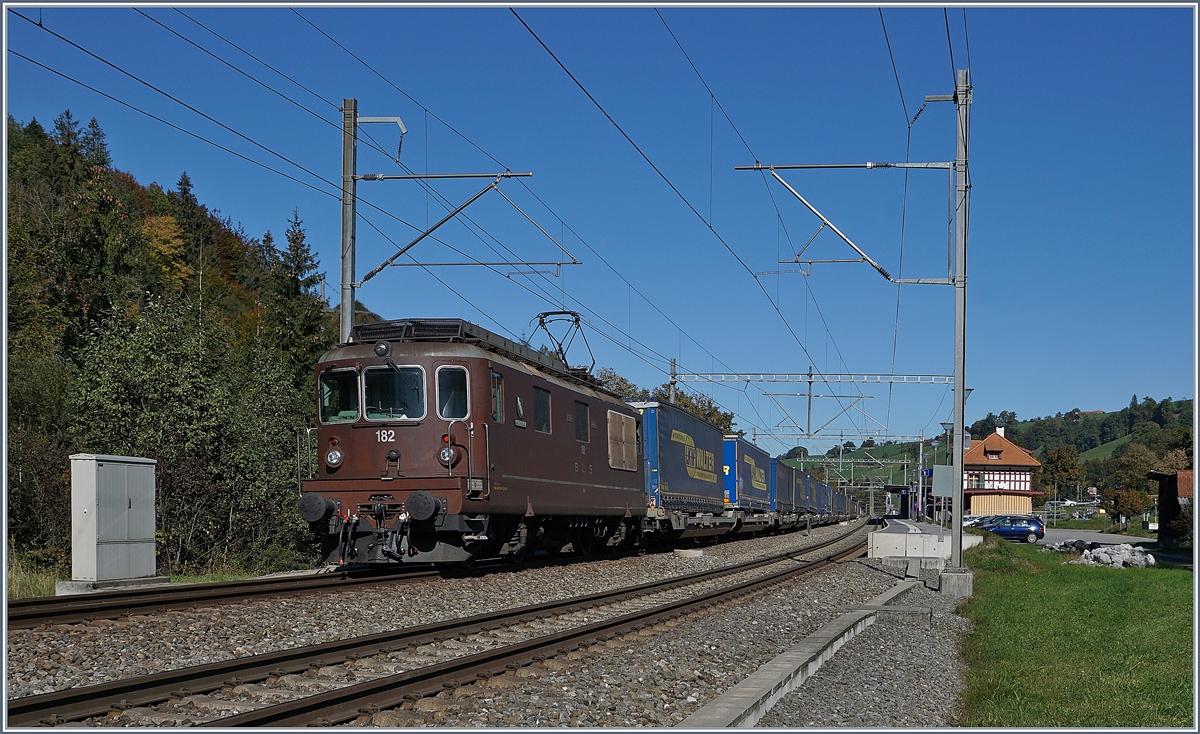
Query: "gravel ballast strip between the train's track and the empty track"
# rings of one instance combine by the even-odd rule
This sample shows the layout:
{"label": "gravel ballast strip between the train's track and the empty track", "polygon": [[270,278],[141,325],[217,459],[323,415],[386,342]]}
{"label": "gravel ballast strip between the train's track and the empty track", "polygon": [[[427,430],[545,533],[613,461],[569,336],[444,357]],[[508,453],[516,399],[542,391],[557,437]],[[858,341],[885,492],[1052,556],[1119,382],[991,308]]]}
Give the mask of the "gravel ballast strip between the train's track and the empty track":
{"label": "gravel ballast strip between the train's track and the empty track", "polygon": [[[48,630],[11,630],[7,696],[48,693],[604,591],[794,550],[846,530],[833,525],[814,528],[811,537],[792,533],[719,543],[704,548],[704,555],[695,559],[655,553],[479,578],[444,578],[416,585],[55,625]],[[754,621],[754,615],[748,616],[748,626],[739,634],[757,632],[762,624]]]}

